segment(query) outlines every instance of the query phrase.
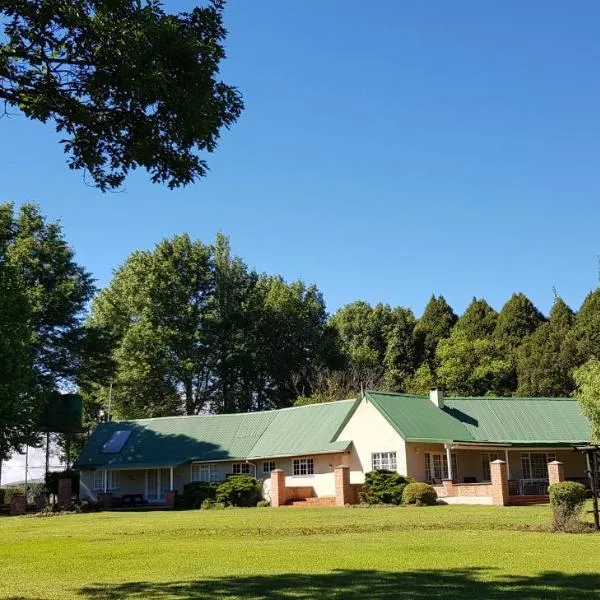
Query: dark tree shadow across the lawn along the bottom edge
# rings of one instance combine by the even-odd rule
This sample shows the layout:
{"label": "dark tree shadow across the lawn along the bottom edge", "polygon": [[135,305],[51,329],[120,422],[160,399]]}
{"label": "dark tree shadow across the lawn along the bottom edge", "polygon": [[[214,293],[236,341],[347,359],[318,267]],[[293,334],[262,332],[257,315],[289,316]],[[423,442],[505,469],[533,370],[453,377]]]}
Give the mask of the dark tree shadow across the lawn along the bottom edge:
{"label": "dark tree shadow across the lawn along the bottom edge", "polygon": [[485,569],[423,570],[390,573],[340,570],[323,574],[289,573],[223,577],[187,582],[96,584],[80,590],[102,600],[209,598],[426,600],[580,600],[600,598],[600,574],[548,572],[531,577],[494,578]]}

